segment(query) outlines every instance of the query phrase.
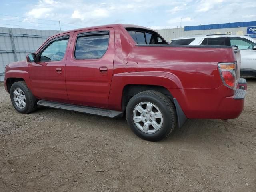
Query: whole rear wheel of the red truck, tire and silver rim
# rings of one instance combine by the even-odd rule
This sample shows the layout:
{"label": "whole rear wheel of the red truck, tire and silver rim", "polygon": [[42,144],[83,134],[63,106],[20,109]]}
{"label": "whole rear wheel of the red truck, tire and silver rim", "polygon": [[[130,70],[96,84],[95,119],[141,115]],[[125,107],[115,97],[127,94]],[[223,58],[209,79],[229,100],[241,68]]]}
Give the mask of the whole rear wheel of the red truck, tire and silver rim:
{"label": "whole rear wheel of the red truck, tire and silver rim", "polygon": [[172,102],[157,91],[144,91],[133,96],[126,107],[126,119],[137,136],[150,141],[166,138],[177,121]]}

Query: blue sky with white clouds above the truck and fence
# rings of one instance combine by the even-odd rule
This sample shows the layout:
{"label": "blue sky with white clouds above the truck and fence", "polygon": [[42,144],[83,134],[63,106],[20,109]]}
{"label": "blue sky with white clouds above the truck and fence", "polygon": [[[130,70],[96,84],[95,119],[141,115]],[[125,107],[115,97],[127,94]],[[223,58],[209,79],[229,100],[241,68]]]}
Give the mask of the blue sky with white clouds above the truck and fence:
{"label": "blue sky with white clouds above the truck and fence", "polygon": [[61,30],[70,30],[126,23],[163,29],[256,20],[256,0],[0,0],[0,2],[0,27],[12,28],[59,30],[61,27]]}

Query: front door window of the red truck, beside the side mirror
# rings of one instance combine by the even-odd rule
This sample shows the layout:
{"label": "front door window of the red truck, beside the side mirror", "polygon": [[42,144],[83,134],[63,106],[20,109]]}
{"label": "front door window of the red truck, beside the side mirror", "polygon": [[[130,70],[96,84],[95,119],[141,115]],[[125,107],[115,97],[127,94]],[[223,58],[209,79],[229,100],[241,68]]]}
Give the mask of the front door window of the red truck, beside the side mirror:
{"label": "front door window of the red truck, beside the side mirror", "polygon": [[68,36],[56,38],[50,42],[40,54],[39,61],[60,61],[64,58],[68,45]]}

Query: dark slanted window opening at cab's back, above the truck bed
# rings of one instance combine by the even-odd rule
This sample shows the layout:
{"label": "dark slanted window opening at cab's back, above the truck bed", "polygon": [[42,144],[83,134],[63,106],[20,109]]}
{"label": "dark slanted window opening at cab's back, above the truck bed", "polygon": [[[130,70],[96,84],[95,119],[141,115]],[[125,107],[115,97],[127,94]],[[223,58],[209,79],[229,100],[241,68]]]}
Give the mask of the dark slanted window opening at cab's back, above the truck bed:
{"label": "dark slanted window opening at cab's back, above the truck bed", "polygon": [[133,40],[139,45],[154,45],[154,44],[168,44],[154,31],[139,29],[139,28],[126,28]]}

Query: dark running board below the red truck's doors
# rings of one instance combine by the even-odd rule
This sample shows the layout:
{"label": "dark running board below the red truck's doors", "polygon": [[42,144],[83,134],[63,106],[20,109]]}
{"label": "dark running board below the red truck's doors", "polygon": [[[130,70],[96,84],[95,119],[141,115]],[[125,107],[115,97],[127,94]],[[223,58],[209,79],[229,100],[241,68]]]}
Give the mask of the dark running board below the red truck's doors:
{"label": "dark running board below the red truck's doors", "polygon": [[93,108],[93,107],[85,107],[80,105],[72,105],[72,104],[66,104],[66,103],[59,103],[59,102],[51,102],[51,101],[44,101],[39,100],[37,102],[38,105],[51,107],[51,108],[57,108],[57,109],[66,109],[71,111],[78,111],[83,113],[89,113],[94,115],[100,115],[100,116],[106,116],[106,117],[117,117],[122,116],[124,112],[122,111],[114,111],[114,110],[108,110],[108,109],[102,109],[102,108]]}

